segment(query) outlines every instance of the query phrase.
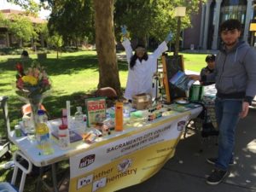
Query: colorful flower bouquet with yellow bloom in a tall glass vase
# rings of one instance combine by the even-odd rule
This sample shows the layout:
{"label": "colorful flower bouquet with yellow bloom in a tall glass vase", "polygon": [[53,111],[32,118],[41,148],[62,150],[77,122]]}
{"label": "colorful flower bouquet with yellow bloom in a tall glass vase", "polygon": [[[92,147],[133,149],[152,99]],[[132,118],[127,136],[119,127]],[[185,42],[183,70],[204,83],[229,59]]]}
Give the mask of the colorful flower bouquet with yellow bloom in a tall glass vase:
{"label": "colorful flower bouquet with yellow bloom in a tall glass vase", "polygon": [[43,101],[43,94],[51,87],[49,77],[38,61],[32,61],[32,66],[28,67],[27,70],[24,70],[23,65],[18,62],[16,69],[18,71],[16,75],[16,93],[21,100],[30,104],[32,126],[34,128],[37,122],[38,109]]}

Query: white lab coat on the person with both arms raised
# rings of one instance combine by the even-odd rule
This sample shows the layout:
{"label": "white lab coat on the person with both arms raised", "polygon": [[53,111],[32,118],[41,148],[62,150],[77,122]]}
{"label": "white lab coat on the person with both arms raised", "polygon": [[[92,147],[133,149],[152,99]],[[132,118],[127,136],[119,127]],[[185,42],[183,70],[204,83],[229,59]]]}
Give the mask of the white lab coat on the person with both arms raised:
{"label": "white lab coat on the person with both arms raised", "polygon": [[152,86],[152,77],[157,69],[157,59],[165,52],[168,47],[166,42],[161,43],[157,49],[154,50],[154,53],[148,55],[147,61],[139,61],[137,59],[135,66],[130,68],[130,61],[132,54],[131,42],[129,39],[126,39],[123,43],[125,48],[126,58],[128,62],[128,79],[125,89],[125,98],[131,100],[132,96],[140,93],[148,93],[155,97],[155,87]]}

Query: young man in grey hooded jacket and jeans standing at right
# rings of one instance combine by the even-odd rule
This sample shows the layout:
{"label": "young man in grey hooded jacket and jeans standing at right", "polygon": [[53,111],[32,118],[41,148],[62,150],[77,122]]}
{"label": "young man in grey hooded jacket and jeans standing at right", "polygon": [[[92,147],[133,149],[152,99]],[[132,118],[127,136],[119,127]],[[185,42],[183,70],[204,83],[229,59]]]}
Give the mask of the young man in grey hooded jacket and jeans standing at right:
{"label": "young man in grey hooded jacket and jeans standing at right", "polygon": [[240,40],[241,22],[225,20],[220,26],[223,47],[218,52],[214,73],[189,75],[191,79],[216,82],[215,113],[218,123],[218,156],[208,158],[214,165],[207,183],[218,184],[234,165],[235,132],[238,120],[245,118],[256,95],[256,52]]}

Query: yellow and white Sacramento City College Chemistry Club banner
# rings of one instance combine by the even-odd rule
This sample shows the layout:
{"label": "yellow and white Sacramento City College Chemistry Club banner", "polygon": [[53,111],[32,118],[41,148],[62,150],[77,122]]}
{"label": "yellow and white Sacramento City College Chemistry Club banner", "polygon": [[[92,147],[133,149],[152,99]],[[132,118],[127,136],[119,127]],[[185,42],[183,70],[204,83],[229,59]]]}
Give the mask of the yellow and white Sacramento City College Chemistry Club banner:
{"label": "yellow and white Sacramento City College Chemistry Club banner", "polygon": [[187,119],[175,119],[73,156],[69,191],[110,192],[152,177],[174,155]]}

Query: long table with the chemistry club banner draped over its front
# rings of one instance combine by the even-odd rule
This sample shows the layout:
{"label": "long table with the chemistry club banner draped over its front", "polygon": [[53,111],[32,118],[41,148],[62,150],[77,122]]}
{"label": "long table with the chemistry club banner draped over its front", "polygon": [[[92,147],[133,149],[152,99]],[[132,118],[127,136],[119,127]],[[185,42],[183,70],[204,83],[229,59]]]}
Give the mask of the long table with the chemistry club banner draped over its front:
{"label": "long table with the chemistry club banner draped over its front", "polygon": [[[55,163],[68,159],[70,191],[113,191],[141,183],[158,172],[174,155],[185,122],[195,118],[201,110],[195,105],[195,108],[185,108],[183,112],[166,111],[163,117],[152,122],[131,119],[124,131],[112,131],[111,135],[98,137],[95,143],[72,143],[66,150],[53,142],[55,153],[49,155],[39,154],[36,143],[27,137],[15,137],[14,131],[9,131],[9,140],[33,165],[51,166],[55,192],[58,191]],[[61,124],[61,119],[48,124],[56,127]]]}

